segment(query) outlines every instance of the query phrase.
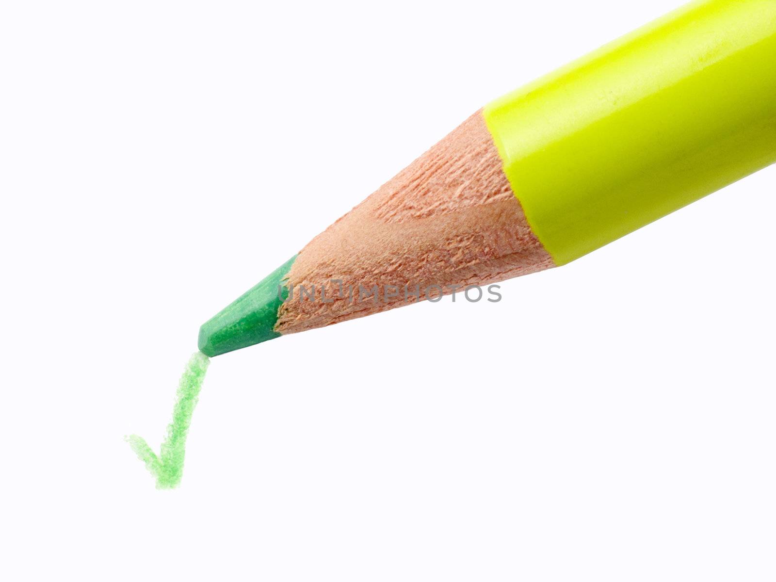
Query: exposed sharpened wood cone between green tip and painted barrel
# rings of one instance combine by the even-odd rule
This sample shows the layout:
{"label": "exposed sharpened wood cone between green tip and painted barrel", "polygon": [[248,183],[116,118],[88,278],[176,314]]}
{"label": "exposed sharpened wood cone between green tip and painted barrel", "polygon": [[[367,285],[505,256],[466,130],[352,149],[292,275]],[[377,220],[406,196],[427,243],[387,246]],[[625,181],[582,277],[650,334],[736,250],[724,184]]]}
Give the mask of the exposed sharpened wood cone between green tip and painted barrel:
{"label": "exposed sharpened wood cone between green tip and painted barrel", "polygon": [[[305,331],[434,298],[437,288],[447,294],[553,266],[478,111],[300,251],[275,330]],[[300,286],[315,286],[314,300],[302,299]],[[379,295],[359,300],[359,286],[378,286]],[[386,286],[398,296],[386,299]],[[405,296],[404,286],[420,296]]]}

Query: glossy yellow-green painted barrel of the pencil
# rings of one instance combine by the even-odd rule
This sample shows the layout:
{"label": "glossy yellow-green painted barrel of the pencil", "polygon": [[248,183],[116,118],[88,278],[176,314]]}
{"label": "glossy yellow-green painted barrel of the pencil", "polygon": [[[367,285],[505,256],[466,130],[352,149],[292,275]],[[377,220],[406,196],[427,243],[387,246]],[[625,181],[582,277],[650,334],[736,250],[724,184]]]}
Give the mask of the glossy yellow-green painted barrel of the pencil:
{"label": "glossy yellow-green painted barrel of the pencil", "polygon": [[691,2],[484,115],[563,265],[776,162],[776,0]]}

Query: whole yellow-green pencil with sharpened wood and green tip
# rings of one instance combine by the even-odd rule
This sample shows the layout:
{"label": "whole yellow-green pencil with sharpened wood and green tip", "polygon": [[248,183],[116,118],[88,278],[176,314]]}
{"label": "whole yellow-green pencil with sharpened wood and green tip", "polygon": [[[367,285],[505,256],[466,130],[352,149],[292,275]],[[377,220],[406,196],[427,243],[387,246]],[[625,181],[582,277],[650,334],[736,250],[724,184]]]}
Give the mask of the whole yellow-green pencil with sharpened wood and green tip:
{"label": "whole yellow-green pencil with sharpened wood and green tip", "polygon": [[776,0],[691,2],[474,113],[203,324],[199,349],[565,265],[774,162]]}

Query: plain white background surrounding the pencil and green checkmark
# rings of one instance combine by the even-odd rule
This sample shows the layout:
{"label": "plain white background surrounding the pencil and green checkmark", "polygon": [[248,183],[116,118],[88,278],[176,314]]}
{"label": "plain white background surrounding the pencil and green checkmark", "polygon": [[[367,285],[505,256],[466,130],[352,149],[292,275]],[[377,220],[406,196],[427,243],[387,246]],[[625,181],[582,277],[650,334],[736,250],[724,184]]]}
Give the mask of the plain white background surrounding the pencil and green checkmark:
{"label": "plain white background surrounding the pencil and green checkmark", "polygon": [[4,580],[773,580],[776,168],[501,303],[199,324],[490,99],[677,0],[4,2]]}

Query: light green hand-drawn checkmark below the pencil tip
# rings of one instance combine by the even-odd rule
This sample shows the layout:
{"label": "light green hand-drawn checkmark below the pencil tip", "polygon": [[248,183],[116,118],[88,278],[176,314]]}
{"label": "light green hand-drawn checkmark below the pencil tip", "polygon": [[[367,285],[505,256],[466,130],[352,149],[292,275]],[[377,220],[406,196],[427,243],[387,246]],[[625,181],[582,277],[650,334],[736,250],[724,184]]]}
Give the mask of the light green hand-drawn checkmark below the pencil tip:
{"label": "light green hand-drawn checkmark below the pencil tip", "polygon": [[126,437],[126,442],[130,443],[137,458],[145,463],[146,468],[156,479],[157,489],[172,489],[178,487],[181,482],[186,436],[189,435],[189,425],[192,422],[194,407],[199,400],[199,389],[202,388],[208,364],[210,364],[210,358],[202,352],[197,352],[189,359],[178,383],[175,408],[172,409],[172,422],[168,424],[167,436],[161,443],[158,456],[144,438],[137,435]]}

